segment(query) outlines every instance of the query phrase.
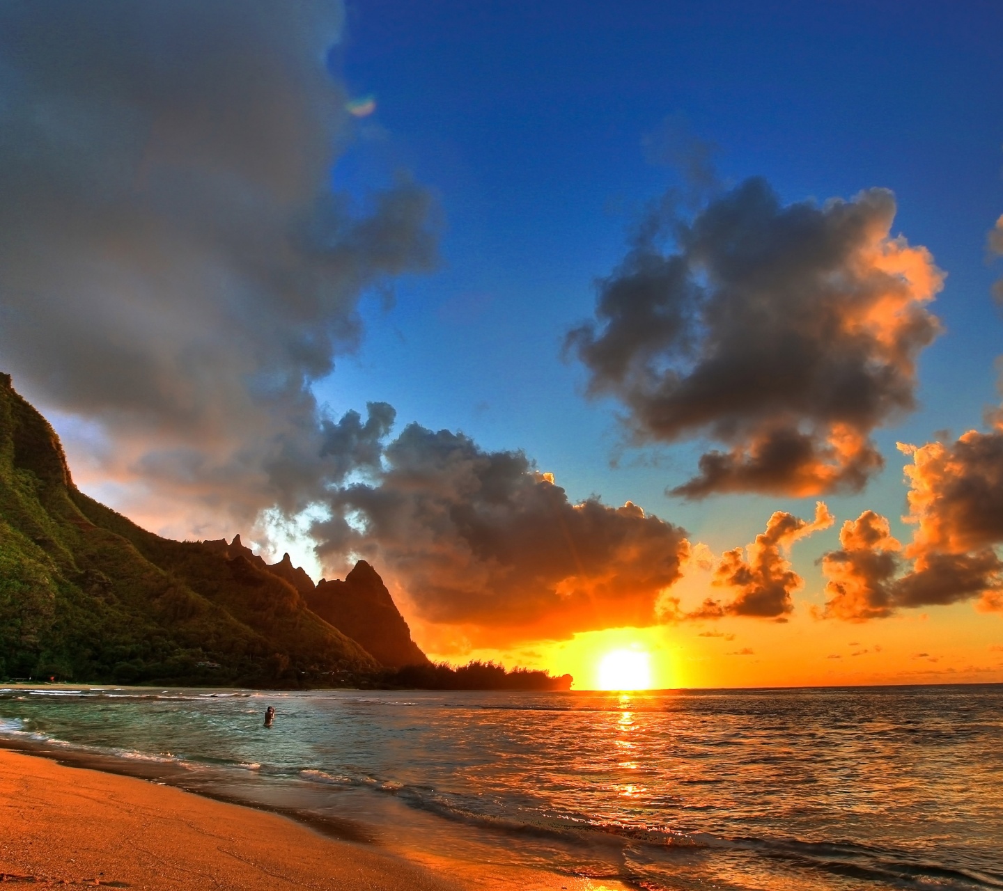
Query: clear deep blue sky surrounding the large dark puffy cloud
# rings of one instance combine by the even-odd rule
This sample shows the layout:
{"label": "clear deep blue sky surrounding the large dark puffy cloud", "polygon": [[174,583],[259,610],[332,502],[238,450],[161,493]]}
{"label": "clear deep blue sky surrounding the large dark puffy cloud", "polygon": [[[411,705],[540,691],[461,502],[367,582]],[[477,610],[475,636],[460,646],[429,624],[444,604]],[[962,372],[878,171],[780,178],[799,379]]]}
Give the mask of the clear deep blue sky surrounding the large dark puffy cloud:
{"label": "clear deep blue sky surrounding the large dark puffy cloud", "polygon": [[807,509],[668,498],[697,444],[627,450],[611,467],[615,406],[586,402],[581,368],[560,358],[632,221],[679,181],[645,150],[668,120],[715,147],[725,182],[763,175],[787,201],[893,189],[893,232],[948,272],[921,410],[879,432],[882,477],[831,499],[841,517],[896,517],[895,440],[978,426],[996,399],[985,239],[1003,207],[999,25],[989,3],[350,4],[332,61],[377,110],[334,182],[363,194],[411,170],[437,192],[442,261],[399,283],[389,312],[367,305],[358,357],[319,394],[336,410],[385,399],[399,422],[525,449],[572,497],[632,499],[717,546],[774,508]]}

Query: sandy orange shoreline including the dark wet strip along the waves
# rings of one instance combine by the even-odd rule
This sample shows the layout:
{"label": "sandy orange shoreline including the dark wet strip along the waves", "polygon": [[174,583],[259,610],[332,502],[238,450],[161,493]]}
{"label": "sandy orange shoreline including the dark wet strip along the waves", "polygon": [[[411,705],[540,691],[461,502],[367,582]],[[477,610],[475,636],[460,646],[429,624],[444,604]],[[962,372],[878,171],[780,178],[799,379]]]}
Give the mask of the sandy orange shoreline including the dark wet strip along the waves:
{"label": "sandy orange shoreline including the dark wet strip along the waves", "polygon": [[[443,856],[413,843],[406,847],[400,840],[387,845],[362,823],[203,787],[187,788],[183,782],[187,776],[188,771],[169,761],[132,760],[0,736],[0,883],[148,891],[632,891],[635,887],[611,876],[557,871],[544,864],[499,863],[475,846]],[[26,781],[28,788],[17,790],[17,781]],[[79,803],[73,806],[72,796],[81,791],[92,802],[124,803],[133,813],[95,814]],[[140,819],[135,819],[140,812]],[[188,837],[164,845],[158,825],[184,825]],[[205,837],[220,836],[221,825],[228,827],[224,835],[238,850],[223,845],[207,850],[205,844],[199,849]],[[159,863],[161,872],[139,875],[141,860],[135,859],[132,847],[118,846],[114,841],[118,837],[127,838],[132,847],[138,838],[139,850],[147,860],[152,857]],[[197,850],[191,849],[193,839]],[[263,839],[267,842],[260,851]],[[81,845],[88,857],[38,854]],[[243,871],[235,872],[231,862],[235,858],[245,864]],[[194,884],[184,877],[192,872],[201,876]]]}

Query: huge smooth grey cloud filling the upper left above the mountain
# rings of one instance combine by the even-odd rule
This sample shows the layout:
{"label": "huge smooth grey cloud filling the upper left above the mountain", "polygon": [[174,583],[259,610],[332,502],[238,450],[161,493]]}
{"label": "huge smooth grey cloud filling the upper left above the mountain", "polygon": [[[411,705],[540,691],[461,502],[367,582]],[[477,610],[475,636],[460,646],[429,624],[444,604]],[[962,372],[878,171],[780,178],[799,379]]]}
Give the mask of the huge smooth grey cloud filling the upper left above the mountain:
{"label": "huge smooth grey cloud filling the upper left above the mountain", "polygon": [[403,177],[367,205],[329,188],[341,23],[322,0],[0,9],[0,362],[164,507],[247,523],[375,460],[388,408],[335,422],[310,385],[367,289],[431,267],[434,212]]}

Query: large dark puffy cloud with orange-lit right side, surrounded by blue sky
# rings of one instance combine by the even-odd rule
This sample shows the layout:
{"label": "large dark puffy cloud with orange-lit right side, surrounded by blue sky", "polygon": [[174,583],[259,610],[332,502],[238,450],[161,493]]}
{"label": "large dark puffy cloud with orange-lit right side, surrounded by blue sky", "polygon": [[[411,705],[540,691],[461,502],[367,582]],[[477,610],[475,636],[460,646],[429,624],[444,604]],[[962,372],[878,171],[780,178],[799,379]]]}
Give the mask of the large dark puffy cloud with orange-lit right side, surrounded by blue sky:
{"label": "large dark puffy cloud with orange-lit right side, surrounded by blue sky", "polygon": [[892,237],[894,196],[782,205],[749,179],[689,220],[670,203],[567,337],[588,395],[621,402],[635,444],[724,444],[674,494],[861,489],[884,463],[872,431],[915,407],[916,360],[940,332],[925,304],[943,274]]}

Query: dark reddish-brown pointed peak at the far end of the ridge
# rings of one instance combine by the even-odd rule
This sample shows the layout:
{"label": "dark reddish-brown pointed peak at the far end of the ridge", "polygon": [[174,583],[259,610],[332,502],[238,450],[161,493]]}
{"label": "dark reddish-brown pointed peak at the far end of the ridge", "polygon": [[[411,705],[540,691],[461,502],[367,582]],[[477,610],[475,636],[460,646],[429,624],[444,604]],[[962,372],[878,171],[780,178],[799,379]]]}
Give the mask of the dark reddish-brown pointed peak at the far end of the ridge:
{"label": "dark reddish-brown pointed peak at the far end of the ridge", "polygon": [[[277,566],[286,573],[284,577],[293,581],[286,560]],[[292,564],[288,565],[291,568]],[[276,566],[271,568],[276,571]],[[359,560],[344,581],[322,578],[313,591],[304,590],[303,596],[321,618],[358,640],[384,665],[400,669],[429,664],[428,657],[411,639],[411,630],[383,579],[365,560]]]}

